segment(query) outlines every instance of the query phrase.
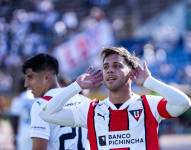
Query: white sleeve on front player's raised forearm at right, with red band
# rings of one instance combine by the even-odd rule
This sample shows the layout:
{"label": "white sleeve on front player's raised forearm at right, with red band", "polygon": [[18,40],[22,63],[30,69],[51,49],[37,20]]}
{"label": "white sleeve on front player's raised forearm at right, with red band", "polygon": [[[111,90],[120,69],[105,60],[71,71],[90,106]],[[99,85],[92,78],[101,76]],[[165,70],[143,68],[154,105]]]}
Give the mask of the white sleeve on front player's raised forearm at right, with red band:
{"label": "white sleeve on front player's raised forearm at right, with red band", "polygon": [[[174,88],[170,85],[161,82],[152,76],[149,76],[144,82],[144,87],[151,91],[155,91],[159,93],[165,99],[162,100],[159,104],[157,104],[158,111],[160,115],[164,118],[168,118],[170,116],[178,117],[183,114],[186,110],[188,110],[191,106],[190,98],[180,91],[177,88]],[[151,102],[152,103],[152,102]],[[165,116],[164,116],[165,115]]]}

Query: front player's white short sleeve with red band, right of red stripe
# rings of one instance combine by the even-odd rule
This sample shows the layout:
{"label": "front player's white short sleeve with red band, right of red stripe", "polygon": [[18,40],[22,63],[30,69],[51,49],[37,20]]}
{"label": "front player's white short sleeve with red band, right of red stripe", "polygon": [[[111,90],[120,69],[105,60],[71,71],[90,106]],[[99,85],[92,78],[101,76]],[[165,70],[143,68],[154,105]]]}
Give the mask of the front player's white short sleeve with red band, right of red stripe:
{"label": "front player's white short sleeve with red band, right of red stripe", "polygon": [[172,118],[172,116],[168,113],[166,106],[167,106],[167,100],[161,96],[146,96],[147,101],[149,103],[150,109],[154,117],[158,122],[160,122],[163,119],[169,119]]}

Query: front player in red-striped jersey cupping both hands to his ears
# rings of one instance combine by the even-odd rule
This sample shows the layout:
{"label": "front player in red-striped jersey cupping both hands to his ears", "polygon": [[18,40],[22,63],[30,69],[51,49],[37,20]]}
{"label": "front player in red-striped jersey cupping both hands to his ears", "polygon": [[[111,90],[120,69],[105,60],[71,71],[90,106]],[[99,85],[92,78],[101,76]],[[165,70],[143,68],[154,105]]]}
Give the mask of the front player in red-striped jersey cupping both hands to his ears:
{"label": "front player in red-striped jersey cupping both hands to his ears", "polygon": [[[56,95],[40,112],[52,123],[88,128],[91,150],[159,150],[161,120],[177,117],[190,107],[190,99],[180,90],[155,79],[138,58],[122,47],[102,51],[103,81],[109,90],[104,101],[85,101],[64,108],[67,100],[82,89],[99,85],[102,73],[87,72]],[[161,96],[137,95],[131,83]]]}

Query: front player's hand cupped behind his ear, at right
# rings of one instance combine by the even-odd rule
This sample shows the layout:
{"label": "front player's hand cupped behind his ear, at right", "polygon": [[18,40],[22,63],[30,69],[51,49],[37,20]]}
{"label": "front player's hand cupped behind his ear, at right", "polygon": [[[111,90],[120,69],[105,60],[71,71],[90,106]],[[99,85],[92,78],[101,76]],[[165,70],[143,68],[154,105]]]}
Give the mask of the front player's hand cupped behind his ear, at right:
{"label": "front player's hand cupped behind his ear, at right", "polygon": [[151,75],[146,62],[143,66],[138,65],[136,69],[130,73],[130,78],[136,82],[137,85],[143,86],[145,80]]}

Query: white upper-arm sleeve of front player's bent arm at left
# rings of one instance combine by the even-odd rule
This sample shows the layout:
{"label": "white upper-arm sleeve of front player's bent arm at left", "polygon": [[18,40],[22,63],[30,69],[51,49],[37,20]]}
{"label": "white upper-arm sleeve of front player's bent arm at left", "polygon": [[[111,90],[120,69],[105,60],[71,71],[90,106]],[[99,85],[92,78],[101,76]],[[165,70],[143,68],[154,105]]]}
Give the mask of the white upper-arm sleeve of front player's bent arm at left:
{"label": "white upper-arm sleeve of front player's bent arm at left", "polygon": [[[59,105],[58,103],[61,100],[61,97],[55,101],[51,99],[48,102],[48,105],[52,102],[56,107],[56,105]],[[87,113],[89,109],[89,103],[89,98],[80,94],[76,94],[71,97],[62,107],[59,106],[58,109],[51,113],[45,113],[44,108],[46,107],[43,107],[40,112],[40,117],[49,123],[57,125],[69,127],[87,127]],[[53,107],[53,105],[51,107]]]}

